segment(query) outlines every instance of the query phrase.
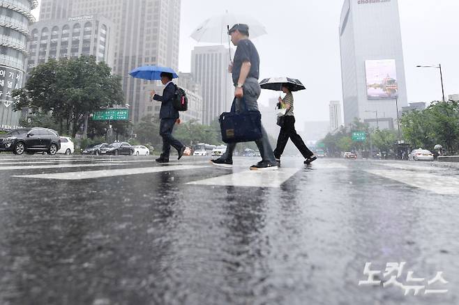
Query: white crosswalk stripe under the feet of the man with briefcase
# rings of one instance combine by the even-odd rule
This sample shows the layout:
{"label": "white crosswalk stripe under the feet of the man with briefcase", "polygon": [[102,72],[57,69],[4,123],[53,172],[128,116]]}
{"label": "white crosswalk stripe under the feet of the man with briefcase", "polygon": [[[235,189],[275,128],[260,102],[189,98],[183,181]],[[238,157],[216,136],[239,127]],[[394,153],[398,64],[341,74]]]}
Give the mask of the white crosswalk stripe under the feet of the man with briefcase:
{"label": "white crosswalk stripe under the feet of the man with briefcase", "polygon": [[243,171],[216,178],[188,182],[187,184],[278,188],[298,171],[299,169],[279,169],[278,171]]}

